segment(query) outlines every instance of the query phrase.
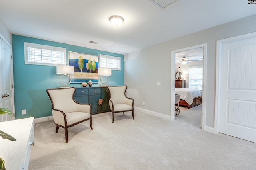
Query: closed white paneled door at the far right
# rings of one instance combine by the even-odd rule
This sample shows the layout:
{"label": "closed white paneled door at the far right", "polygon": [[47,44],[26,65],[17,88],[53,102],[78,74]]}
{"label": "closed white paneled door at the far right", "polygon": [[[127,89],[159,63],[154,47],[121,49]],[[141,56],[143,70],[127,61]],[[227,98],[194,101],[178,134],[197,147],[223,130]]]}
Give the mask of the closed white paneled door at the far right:
{"label": "closed white paneled door at the far right", "polygon": [[252,142],[256,142],[255,35],[233,37],[222,43],[218,87],[219,132]]}

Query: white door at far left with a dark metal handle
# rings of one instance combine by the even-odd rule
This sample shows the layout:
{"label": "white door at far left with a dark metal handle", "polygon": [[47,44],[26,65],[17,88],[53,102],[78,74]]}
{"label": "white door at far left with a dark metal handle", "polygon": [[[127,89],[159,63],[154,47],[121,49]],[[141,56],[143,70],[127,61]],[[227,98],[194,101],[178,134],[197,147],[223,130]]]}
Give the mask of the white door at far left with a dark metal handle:
{"label": "white door at far left with a dark metal handle", "polygon": [[[14,113],[14,90],[11,47],[0,39],[0,107]],[[0,115],[0,122],[13,120],[14,114]]]}

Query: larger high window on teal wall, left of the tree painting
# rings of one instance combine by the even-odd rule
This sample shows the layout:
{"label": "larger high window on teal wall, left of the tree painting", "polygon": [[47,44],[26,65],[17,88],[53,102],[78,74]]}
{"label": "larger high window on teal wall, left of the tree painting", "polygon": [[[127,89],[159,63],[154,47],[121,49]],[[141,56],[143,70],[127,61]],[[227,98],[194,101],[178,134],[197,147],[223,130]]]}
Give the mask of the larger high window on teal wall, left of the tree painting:
{"label": "larger high window on teal wall, left of the tree painting", "polygon": [[25,64],[56,66],[66,64],[66,49],[24,42]]}

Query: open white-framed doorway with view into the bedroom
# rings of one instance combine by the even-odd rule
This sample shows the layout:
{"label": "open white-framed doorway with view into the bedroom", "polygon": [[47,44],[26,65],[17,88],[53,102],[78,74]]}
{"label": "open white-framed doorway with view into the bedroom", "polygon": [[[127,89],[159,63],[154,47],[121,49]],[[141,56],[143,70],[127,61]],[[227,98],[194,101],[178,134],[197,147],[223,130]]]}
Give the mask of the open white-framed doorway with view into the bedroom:
{"label": "open white-framed doorway with view into the bedroom", "polygon": [[[172,51],[171,56],[171,119],[186,117],[190,123],[204,130],[206,91],[206,44]],[[175,94],[180,106],[175,106]],[[177,115],[177,108],[180,115]]]}

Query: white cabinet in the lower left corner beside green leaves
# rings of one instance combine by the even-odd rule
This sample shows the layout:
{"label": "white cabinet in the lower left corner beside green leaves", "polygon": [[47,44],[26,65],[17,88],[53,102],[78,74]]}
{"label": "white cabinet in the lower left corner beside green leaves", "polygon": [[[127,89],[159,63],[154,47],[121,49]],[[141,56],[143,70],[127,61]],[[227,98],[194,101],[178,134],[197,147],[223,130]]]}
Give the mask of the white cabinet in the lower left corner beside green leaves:
{"label": "white cabinet in the lower left corner beside green leaves", "polygon": [[0,122],[0,130],[16,139],[0,137],[0,157],[6,170],[27,170],[31,147],[34,144],[34,117]]}

